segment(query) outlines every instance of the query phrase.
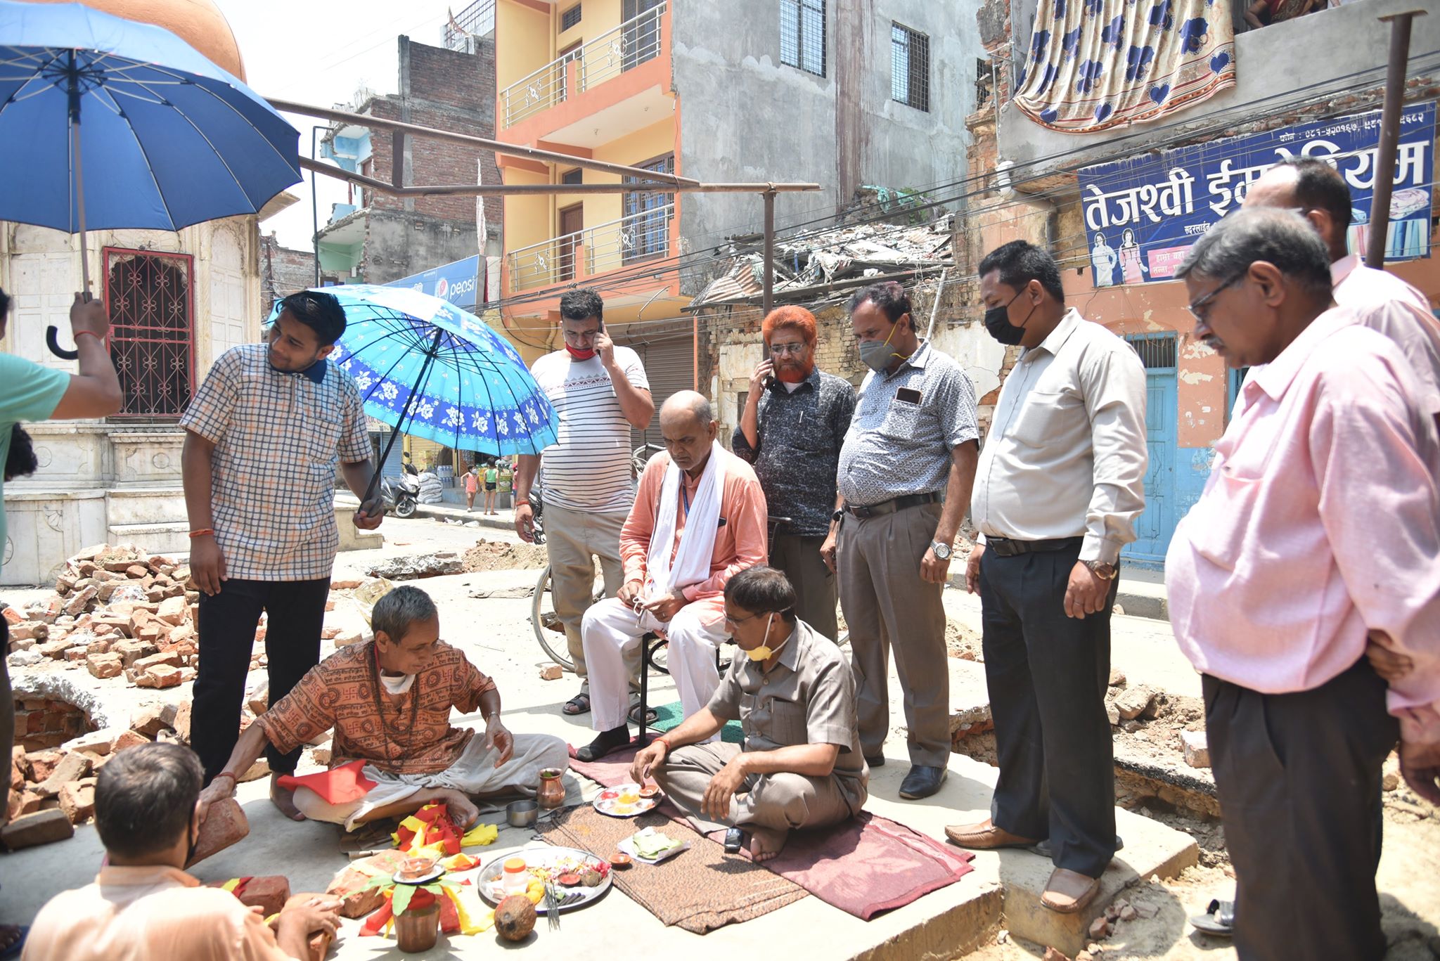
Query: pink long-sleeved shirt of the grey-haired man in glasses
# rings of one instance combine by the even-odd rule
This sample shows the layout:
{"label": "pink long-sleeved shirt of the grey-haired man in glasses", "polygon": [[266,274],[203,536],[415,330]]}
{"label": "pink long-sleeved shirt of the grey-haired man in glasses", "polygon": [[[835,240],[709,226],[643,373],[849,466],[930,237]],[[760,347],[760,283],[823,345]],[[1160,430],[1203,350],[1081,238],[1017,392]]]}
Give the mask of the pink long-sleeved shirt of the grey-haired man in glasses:
{"label": "pink long-sleeved shirt of the grey-haired man in glasses", "polygon": [[1440,439],[1400,349],[1339,307],[1246,379],[1200,501],[1165,558],[1197,670],[1264,693],[1319,687],[1384,631],[1407,741],[1440,741]]}

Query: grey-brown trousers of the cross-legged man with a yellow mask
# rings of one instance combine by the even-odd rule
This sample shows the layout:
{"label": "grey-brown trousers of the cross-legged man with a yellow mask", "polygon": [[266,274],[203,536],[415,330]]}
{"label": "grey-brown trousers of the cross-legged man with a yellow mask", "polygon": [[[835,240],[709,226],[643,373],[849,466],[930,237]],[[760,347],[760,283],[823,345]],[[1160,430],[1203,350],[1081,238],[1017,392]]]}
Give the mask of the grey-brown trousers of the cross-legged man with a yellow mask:
{"label": "grey-brown trousers of the cross-legged man with a yellow mask", "polygon": [[829,827],[851,817],[834,775],[752,774],[730,798],[730,817],[711,821],[700,814],[700,803],[710,779],[737,754],[740,745],[719,741],[675,748],[675,754],[667,755],[665,764],[655,769],[655,782],[704,833],[746,824],[782,831]]}

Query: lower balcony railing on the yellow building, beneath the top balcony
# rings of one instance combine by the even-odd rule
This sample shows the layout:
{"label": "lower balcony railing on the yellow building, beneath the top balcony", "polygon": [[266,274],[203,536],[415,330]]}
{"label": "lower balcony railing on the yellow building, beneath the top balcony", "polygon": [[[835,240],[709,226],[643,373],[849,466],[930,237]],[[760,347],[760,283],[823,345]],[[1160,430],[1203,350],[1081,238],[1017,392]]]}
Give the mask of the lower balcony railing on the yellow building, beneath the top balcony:
{"label": "lower balcony railing on the yellow building, beneath the top balcony", "polygon": [[675,205],[638,210],[618,220],[510,251],[508,290],[566,284],[670,254]]}

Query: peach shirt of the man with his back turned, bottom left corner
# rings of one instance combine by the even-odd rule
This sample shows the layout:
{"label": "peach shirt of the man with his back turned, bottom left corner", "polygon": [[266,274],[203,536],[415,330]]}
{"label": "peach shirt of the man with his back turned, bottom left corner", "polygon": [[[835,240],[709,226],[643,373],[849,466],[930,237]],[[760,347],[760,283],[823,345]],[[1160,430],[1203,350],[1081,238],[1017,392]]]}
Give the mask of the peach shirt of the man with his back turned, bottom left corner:
{"label": "peach shirt of the man with his back turned, bottom left corner", "polygon": [[269,925],[177,867],[102,867],[50,899],[22,961],[289,961]]}

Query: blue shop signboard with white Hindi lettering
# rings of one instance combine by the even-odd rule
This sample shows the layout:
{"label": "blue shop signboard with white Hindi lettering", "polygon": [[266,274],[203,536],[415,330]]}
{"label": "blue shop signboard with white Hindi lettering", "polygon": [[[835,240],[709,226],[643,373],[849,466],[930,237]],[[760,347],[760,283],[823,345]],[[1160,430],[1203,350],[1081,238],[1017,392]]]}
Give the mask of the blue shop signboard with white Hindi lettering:
{"label": "blue shop signboard with white Hindi lettering", "polygon": [[[1434,140],[1434,102],[1405,107],[1390,197],[1390,261],[1430,254]],[[1172,278],[1195,239],[1287,157],[1316,157],[1344,174],[1354,203],[1349,249],[1364,251],[1378,144],[1380,111],[1374,111],[1084,167],[1080,200],[1094,285]]]}

